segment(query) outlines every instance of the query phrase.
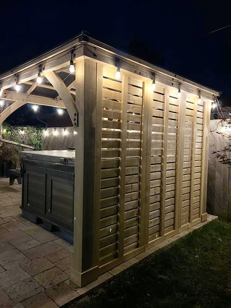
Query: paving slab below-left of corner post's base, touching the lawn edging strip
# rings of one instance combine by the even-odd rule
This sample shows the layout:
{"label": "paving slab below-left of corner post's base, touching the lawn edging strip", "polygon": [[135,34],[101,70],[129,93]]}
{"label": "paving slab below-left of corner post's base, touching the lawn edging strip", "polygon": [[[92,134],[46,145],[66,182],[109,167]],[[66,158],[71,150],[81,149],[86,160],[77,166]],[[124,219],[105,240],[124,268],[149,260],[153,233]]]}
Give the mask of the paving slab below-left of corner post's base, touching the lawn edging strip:
{"label": "paving slab below-left of corner post's base, touching the lawn edging strip", "polygon": [[59,306],[62,306],[79,296],[77,292],[64,282],[57,284],[53,288],[46,289],[45,293]]}

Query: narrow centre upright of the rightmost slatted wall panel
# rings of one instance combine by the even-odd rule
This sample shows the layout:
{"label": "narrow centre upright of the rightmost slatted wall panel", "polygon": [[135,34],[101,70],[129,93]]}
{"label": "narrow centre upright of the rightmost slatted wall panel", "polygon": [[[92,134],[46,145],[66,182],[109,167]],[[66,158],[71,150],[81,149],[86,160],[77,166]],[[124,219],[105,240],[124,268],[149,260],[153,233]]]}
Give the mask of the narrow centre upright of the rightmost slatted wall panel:
{"label": "narrow centre upright of the rightmost slatted wall panel", "polygon": [[191,178],[190,178],[190,203],[189,203],[189,222],[193,219],[193,186],[195,172],[195,151],[196,151],[196,119],[197,119],[197,102],[194,100],[193,126],[192,126],[192,153],[191,153]]}

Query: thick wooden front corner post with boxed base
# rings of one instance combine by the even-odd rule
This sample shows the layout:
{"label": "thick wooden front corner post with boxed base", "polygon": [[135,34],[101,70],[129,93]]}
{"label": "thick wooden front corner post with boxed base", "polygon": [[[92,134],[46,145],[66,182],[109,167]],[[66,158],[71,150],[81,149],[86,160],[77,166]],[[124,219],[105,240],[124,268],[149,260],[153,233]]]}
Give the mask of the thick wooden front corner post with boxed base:
{"label": "thick wooden front corner post with boxed base", "polygon": [[[99,202],[95,200],[96,179],[99,179],[99,155],[95,153],[96,103],[100,101],[101,78],[97,64],[91,60],[80,60],[76,68],[76,105],[79,126],[76,128],[75,191],[74,191],[74,255],[71,280],[82,287],[98,277],[99,266],[94,249],[99,240]],[[100,74],[101,74],[100,73]],[[101,84],[102,85],[102,84]],[[101,128],[101,127],[100,127]],[[97,158],[97,161],[96,161]],[[96,173],[96,175],[95,175]],[[97,191],[99,190],[99,187]]]}

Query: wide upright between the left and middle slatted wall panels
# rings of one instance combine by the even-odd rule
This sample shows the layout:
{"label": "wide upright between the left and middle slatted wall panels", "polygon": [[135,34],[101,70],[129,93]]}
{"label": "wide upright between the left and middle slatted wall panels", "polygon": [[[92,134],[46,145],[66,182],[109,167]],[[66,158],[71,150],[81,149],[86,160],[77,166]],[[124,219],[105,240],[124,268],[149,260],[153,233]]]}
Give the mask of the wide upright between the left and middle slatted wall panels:
{"label": "wide upright between the left and middle slatted wall panels", "polygon": [[140,213],[140,246],[148,244],[150,168],[152,148],[152,81],[143,82],[143,116],[142,116],[142,170],[141,170],[141,213]]}

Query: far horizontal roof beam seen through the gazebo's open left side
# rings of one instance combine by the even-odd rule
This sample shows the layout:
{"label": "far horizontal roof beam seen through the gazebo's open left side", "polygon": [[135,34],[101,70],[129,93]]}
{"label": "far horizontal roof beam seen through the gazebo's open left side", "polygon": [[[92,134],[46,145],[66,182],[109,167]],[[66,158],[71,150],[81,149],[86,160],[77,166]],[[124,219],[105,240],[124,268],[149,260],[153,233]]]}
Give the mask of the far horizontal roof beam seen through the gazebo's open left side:
{"label": "far horizontal roof beam seen through the gazebo's open left side", "polygon": [[52,106],[52,107],[65,107],[62,100],[53,100],[52,98],[39,96],[39,95],[26,95],[24,93],[15,92],[15,91],[8,91],[4,90],[2,94],[2,99],[6,100],[24,100],[25,103],[33,103],[45,106]]}

